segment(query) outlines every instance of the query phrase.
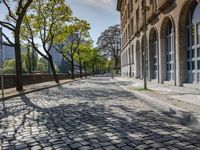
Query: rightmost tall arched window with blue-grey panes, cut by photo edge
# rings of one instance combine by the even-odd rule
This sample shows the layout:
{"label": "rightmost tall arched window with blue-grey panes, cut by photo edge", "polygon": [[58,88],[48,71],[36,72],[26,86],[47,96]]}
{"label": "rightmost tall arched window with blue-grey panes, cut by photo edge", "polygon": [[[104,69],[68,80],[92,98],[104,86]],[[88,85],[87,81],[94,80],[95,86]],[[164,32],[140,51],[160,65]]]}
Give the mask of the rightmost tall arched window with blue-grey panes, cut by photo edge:
{"label": "rightmost tall arched window with blue-grey panes, cut by photo edge", "polygon": [[187,73],[188,82],[200,82],[200,5],[195,2],[187,19]]}

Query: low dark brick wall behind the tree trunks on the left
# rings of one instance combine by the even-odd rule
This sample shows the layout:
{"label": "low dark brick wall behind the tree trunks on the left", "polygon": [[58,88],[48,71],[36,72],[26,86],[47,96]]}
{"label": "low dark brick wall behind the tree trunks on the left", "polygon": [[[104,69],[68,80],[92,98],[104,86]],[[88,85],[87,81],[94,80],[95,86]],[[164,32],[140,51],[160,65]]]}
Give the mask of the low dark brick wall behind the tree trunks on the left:
{"label": "low dark brick wall behind the tree trunks on the left", "polygon": [[[70,75],[58,74],[59,80],[70,79]],[[79,75],[75,75],[75,78],[79,78]],[[54,81],[53,75],[49,74],[32,74],[32,75],[23,75],[23,84],[30,85],[42,82]],[[16,77],[15,75],[4,75],[4,88],[15,87]],[[1,80],[0,80],[1,85]],[[0,87],[1,89],[1,87]]]}

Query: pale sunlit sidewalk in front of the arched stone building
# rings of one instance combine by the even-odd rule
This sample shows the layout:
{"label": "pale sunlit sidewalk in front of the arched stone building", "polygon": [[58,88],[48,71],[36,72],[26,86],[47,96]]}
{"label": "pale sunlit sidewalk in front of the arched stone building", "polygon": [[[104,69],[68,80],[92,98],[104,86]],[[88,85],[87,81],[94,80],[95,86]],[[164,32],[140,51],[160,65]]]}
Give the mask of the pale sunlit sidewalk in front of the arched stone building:
{"label": "pale sunlit sidewalk in front of the arched stone building", "polygon": [[[195,116],[200,123],[200,86],[178,87],[148,82],[148,90],[143,90],[143,80],[128,77],[115,77],[116,83],[135,94],[136,97],[145,99],[161,111],[168,111],[175,116]],[[190,115],[186,114],[188,112]]]}

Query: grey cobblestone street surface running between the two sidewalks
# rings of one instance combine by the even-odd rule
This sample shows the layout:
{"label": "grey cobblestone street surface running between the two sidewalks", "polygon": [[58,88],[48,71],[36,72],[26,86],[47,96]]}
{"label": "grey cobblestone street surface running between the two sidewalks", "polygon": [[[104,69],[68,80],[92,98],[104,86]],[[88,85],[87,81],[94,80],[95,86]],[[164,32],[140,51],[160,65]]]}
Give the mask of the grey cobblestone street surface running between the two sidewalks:
{"label": "grey cobblestone street surface running between the two sidewalks", "polygon": [[1,103],[0,149],[200,149],[200,132],[92,78]]}

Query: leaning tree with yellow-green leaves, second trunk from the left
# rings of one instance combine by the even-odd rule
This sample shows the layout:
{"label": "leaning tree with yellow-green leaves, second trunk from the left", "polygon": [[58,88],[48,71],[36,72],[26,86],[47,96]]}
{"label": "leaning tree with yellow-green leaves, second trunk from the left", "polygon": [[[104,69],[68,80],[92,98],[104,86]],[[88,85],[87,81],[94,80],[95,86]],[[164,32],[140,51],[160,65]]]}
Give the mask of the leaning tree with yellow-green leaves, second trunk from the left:
{"label": "leaning tree with yellow-green leaves, second trunk from the left", "polygon": [[[50,50],[56,37],[63,32],[66,24],[71,20],[71,15],[72,11],[64,0],[37,0],[31,5],[28,15],[23,20],[23,39],[49,62],[56,83],[59,83],[59,79]],[[40,42],[37,42],[38,39]],[[41,52],[38,46],[40,44],[45,54]]]}

